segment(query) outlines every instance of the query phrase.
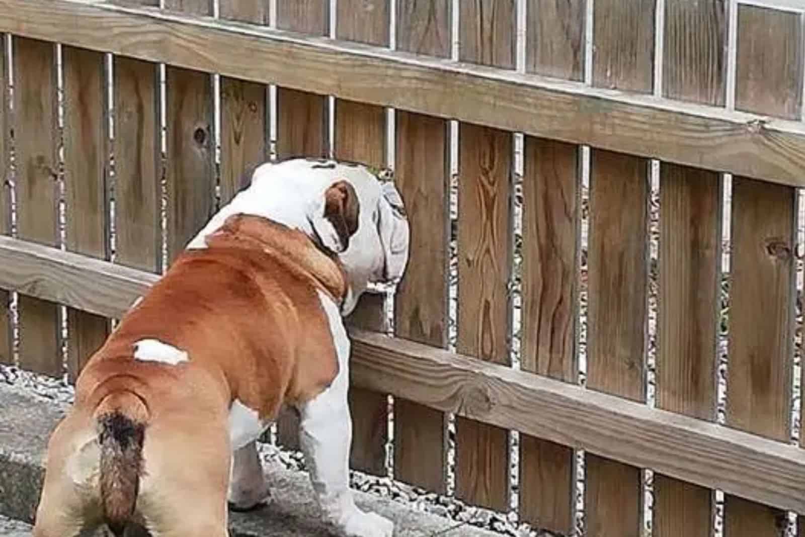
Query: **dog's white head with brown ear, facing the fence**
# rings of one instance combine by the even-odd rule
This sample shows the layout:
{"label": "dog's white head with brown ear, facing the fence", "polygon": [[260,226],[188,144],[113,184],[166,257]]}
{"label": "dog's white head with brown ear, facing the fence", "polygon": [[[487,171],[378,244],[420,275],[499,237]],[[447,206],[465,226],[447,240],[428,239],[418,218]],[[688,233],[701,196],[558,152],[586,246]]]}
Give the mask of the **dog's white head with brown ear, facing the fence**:
{"label": "dog's white head with brown ear, facing the fence", "polygon": [[306,222],[297,225],[341,260],[349,280],[344,314],[369,283],[394,284],[403,277],[411,236],[394,182],[365,166],[301,158],[258,170],[254,178],[282,181],[296,199],[308,199],[299,215]]}

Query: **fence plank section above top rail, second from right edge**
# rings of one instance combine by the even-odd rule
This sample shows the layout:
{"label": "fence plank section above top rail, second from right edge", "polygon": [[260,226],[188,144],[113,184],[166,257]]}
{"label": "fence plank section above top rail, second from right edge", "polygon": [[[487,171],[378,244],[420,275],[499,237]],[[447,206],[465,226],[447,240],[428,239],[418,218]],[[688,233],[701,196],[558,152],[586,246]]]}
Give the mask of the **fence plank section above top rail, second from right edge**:
{"label": "fence plank section above top rail, second from right edge", "polygon": [[663,96],[724,105],[726,6],[727,2],[666,2]]}

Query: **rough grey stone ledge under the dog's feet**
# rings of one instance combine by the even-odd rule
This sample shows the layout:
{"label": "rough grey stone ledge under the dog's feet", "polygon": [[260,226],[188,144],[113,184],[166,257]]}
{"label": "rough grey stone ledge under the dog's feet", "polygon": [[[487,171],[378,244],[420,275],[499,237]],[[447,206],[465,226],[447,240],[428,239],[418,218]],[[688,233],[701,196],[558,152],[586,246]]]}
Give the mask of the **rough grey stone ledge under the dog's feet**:
{"label": "rough grey stone ledge under the dog's feet", "polygon": [[[47,439],[63,416],[63,408],[19,387],[0,384],[0,516],[31,523],[43,477]],[[303,472],[267,468],[273,501],[262,510],[231,514],[233,537],[331,537],[332,527],[320,522],[308,476]],[[493,537],[499,535],[433,514],[422,513],[388,498],[355,493],[357,503],[393,519],[396,537]],[[28,537],[30,527],[0,519],[0,535]]]}

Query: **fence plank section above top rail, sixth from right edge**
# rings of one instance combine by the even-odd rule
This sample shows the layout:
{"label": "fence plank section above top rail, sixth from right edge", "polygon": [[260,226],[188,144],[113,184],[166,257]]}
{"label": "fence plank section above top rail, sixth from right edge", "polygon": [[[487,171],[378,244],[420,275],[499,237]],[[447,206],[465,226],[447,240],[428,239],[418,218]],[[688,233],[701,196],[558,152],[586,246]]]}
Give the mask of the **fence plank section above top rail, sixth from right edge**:
{"label": "fence plank section above top rail, sixth from right edge", "polygon": [[449,0],[397,2],[397,49],[449,58],[451,5]]}

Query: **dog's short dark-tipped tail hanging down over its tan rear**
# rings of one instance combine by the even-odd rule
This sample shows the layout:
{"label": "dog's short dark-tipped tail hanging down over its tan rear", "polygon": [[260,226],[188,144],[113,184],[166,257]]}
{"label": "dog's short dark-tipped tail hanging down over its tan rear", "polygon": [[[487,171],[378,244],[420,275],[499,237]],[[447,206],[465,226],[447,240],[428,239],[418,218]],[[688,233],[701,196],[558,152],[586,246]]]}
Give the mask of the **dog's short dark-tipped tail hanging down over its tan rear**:
{"label": "dog's short dark-tipped tail hanging down over its tan rear", "polygon": [[109,530],[121,537],[137,502],[148,408],[134,392],[114,391],[101,400],[95,419],[101,445],[101,507]]}

